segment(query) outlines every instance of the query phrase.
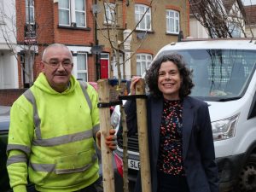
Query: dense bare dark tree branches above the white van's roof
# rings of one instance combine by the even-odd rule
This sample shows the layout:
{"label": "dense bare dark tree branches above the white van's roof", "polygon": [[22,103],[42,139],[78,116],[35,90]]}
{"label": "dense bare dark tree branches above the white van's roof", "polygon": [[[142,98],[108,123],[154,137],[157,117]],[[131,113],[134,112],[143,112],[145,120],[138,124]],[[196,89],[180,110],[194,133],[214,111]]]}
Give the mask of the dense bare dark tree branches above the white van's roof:
{"label": "dense bare dark tree branches above the white van's roof", "polygon": [[189,3],[190,12],[210,38],[234,38],[236,32],[247,38],[247,15],[241,0],[189,0]]}

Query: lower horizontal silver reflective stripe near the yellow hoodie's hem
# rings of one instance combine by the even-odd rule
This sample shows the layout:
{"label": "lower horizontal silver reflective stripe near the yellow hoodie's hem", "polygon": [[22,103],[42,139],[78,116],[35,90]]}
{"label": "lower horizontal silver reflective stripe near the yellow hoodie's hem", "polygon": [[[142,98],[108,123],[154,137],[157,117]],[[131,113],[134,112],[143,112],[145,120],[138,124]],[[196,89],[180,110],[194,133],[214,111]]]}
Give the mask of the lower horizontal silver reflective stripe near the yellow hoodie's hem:
{"label": "lower horizontal silver reflective stripe near the yellow hoodie's hem", "polygon": [[56,174],[63,174],[63,173],[71,173],[71,172],[84,172],[85,170],[89,169],[95,161],[97,160],[97,155],[94,154],[92,156],[92,161],[90,164],[74,169],[55,169],[55,164],[37,164],[37,163],[30,163],[29,166],[36,172],[55,172]]}

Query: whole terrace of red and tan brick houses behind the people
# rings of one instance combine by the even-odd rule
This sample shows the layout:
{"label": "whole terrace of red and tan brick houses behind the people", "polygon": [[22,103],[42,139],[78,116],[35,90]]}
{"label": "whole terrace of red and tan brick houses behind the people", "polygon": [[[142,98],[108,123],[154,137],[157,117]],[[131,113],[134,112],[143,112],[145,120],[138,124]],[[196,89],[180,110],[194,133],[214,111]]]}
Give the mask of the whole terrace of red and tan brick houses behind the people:
{"label": "whole terrace of red and tan brick houses behind the people", "polygon": [[[72,50],[73,75],[77,79],[96,81],[96,79],[118,78],[117,67],[114,65],[118,57],[113,54],[108,39],[102,35],[104,32],[107,34],[107,29],[111,26],[106,23],[105,11],[102,9],[103,3],[117,5],[116,36],[119,41],[123,41],[125,35],[134,30],[119,52],[119,61],[126,61],[121,67],[123,79],[142,75],[161,47],[177,41],[179,32],[182,31],[184,37],[189,36],[188,0],[171,2],[161,0],[161,3],[154,0],[11,1],[16,3],[17,44],[23,49],[17,51],[15,86],[9,86],[8,89],[27,88],[32,84],[40,73],[39,63],[44,48],[53,43],[66,44]],[[74,9],[75,3],[79,3],[77,6],[79,10]],[[94,3],[97,3],[97,6]],[[147,9],[149,14],[146,16],[149,19],[143,20],[143,24],[137,26],[137,20],[143,15],[141,10],[145,12]],[[108,9],[108,16],[111,15],[111,11]],[[79,20],[76,18],[77,15]],[[81,15],[84,15],[84,18]],[[94,16],[96,16],[96,23]],[[102,48],[101,53],[96,54],[98,52],[92,50],[95,48]],[[28,73],[31,75],[24,73],[22,66],[26,70],[31,67],[32,73]],[[0,89],[4,89],[4,87],[1,88],[1,84]],[[3,103],[0,102],[1,104]]]}

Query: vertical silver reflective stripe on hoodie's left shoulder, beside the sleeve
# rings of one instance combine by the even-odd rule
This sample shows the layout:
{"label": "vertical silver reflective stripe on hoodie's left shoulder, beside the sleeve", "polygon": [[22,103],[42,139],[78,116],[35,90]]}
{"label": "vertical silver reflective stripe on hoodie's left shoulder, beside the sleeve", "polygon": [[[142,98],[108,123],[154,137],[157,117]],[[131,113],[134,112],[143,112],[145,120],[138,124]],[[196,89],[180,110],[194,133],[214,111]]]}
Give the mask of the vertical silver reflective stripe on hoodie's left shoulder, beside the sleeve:
{"label": "vertical silver reflective stripe on hoodie's left shoulder, beside the sleeve", "polygon": [[38,139],[41,139],[42,138],[41,131],[40,131],[41,119],[39,118],[39,115],[38,115],[38,107],[37,107],[35,96],[32,94],[32,91],[30,89],[25,91],[24,96],[29,102],[32,103],[35,133],[36,133],[36,137]]}

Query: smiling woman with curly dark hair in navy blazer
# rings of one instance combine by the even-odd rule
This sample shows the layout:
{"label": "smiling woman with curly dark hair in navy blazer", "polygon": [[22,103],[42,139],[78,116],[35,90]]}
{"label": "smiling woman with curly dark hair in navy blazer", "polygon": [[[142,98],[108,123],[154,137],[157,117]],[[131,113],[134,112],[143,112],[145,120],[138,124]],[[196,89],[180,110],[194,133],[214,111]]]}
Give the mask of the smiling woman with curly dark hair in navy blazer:
{"label": "smiling woman with curly dark hair in navy blazer", "polygon": [[[140,78],[131,80],[131,95]],[[181,55],[164,55],[146,73],[152,192],[218,192],[218,168],[206,102],[189,96],[194,86]],[[137,132],[136,102],[125,103],[129,134]],[[140,174],[136,192],[142,191]]]}

